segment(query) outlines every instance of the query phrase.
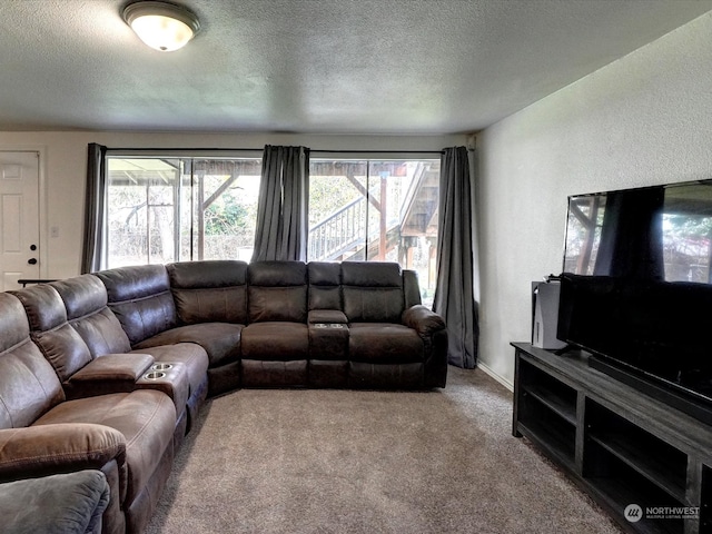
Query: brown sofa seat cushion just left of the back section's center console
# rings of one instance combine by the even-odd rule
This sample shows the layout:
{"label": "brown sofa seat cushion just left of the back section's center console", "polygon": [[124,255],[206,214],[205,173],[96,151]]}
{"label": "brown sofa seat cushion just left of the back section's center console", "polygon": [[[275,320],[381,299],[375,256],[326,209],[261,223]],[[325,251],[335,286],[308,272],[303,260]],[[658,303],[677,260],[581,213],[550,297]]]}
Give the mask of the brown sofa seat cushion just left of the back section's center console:
{"label": "brown sofa seat cushion just left of the back section's center console", "polygon": [[254,323],[243,330],[243,359],[289,362],[307,359],[309,330],[303,323]]}

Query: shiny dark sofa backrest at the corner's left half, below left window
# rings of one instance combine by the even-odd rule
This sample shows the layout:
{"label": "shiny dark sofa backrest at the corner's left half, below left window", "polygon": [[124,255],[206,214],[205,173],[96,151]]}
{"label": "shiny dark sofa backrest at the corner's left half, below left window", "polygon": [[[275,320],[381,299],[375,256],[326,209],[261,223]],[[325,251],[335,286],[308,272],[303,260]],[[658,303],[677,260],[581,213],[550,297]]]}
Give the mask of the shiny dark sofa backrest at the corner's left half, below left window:
{"label": "shiny dark sofa backrest at the corner's left half, below left window", "polygon": [[168,273],[162,265],[118,267],[96,273],[131,345],[178,324]]}

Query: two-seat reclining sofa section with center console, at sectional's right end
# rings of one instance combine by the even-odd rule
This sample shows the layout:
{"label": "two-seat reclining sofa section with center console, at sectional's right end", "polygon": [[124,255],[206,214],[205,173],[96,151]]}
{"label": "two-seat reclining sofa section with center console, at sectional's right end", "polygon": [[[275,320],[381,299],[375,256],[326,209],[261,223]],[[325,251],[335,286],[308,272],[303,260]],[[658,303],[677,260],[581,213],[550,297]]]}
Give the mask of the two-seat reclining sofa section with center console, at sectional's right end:
{"label": "two-seat reclining sofa section with center console, at sectional's right end", "polygon": [[445,325],[398,264],[251,263],[248,309],[245,386],[445,386]]}

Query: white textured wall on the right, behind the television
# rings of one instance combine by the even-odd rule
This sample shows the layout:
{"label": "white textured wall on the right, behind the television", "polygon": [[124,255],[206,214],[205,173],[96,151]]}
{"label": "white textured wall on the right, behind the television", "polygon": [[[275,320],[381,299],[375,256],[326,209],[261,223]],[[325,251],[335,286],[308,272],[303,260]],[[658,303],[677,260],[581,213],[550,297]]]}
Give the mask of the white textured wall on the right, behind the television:
{"label": "white textured wall on the right, behind the television", "polygon": [[568,195],[712,178],[712,12],[478,137],[482,364],[511,382]]}

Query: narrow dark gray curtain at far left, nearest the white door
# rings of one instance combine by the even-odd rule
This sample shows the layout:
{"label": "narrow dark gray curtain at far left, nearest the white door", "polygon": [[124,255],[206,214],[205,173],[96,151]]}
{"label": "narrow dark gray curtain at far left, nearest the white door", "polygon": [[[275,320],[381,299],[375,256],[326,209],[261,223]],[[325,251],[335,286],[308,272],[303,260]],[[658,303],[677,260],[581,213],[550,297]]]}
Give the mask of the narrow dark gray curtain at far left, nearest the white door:
{"label": "narrow dark gray curtain at far left, nearest the white door", "polygon": [[89,144],[87,192],[85,199],[85,238],[81,273],[103,269],[106,257],[107,147]]}

